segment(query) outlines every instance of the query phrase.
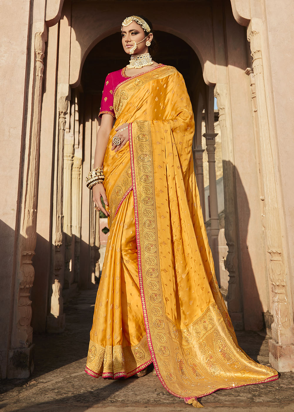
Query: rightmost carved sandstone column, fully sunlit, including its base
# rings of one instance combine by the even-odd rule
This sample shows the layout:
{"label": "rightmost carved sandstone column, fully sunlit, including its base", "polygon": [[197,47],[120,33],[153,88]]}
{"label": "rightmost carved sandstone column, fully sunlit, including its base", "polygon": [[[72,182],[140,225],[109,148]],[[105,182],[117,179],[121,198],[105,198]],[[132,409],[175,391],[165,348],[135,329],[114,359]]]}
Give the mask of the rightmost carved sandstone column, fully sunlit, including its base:
{"label": "rightmost carved sandstone column, fully sunlit, including its base", "polygon": [[268,120],[268,107],[264,82],[263,59],[261,54],[261,33],[248,30],[253,73],[256,86],[257,119],[261,148],[261,166],[264,180],[265,233],[269,255],[268,276],[273,292],[273,318],[271,326],[273,339],[269,341],[270,362],[279,371],[294,370],[293,314],[290,307],[286,284],[286,267],[282,250],[282,233],[279,214],[277,183],[275,176],[276,152]]}

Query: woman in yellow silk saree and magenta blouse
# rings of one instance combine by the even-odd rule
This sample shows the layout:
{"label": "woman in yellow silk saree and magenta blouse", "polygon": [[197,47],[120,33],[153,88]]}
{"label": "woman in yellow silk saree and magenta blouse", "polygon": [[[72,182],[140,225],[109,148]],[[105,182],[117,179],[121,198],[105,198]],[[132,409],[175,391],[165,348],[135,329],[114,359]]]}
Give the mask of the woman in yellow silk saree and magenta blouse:
{"label": "woman in yellow silk saree and magenta blouse", "polygon": [[202,407],[197,398],[217,389],[278,374],[240,349],[219,292],[183,77],[150,57],[152,25],[145,17],[126,18],[121,35],[131,60],[106,77],[96,170],[87,181],[110,234],[86,372],[117,379],[153,362],[170,393]]}

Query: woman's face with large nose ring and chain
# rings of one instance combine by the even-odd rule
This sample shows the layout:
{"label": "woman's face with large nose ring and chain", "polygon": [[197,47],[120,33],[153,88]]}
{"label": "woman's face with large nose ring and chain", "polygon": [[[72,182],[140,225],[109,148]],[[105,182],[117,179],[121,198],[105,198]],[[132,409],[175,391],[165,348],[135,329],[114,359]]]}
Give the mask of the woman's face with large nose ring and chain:
{"label": "woman's face with large nose ring and chain", "polygon": [[[128,26],[123,26],[121,30],[121,43],[124,47],[124,51],[130,54],[130,49],[135,46],[135,42],[138,43],[146,37],[144,30],[140,24],[132,21]],[[148,47],[146,46],[147,40],[152,40],[153,35],[150,33],[144,42],[137,44],[134,54],[143,54],[148,52]]]}

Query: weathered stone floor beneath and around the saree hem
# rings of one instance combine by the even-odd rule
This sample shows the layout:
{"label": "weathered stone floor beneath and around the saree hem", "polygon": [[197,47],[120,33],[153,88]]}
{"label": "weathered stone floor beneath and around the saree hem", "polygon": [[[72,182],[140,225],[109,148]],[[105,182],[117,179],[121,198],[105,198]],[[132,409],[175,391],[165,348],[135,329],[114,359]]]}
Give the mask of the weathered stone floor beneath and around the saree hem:
{"label": "weathered stone floor beneath and around the saree hem", "polygon": [[[35,371],[29,379],[2,381],[0,410],[5,412],[173,412],[192,405],[170,395],[149,373],[141,378],[104,380],[84,372],[96,290],[85,290],[66,307],[66,330],[35,335]],[[260,363],[268,363],[267,339],[238,332],[240,346]],[[201,399],[204,411],[294,412],[294,373],[267,384],[223,390]]]}

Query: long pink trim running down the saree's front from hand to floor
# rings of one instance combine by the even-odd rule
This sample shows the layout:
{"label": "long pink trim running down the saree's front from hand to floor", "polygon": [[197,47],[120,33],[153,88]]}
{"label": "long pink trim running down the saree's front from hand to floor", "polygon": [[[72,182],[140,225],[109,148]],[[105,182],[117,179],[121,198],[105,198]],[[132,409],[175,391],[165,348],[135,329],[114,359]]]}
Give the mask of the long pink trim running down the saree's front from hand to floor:
{"label": "long pink trim running down the saree's front from hand to floor", "polygon": [[[156,66],[158,67],[158,66]],[[152,361],[154,368],[156,370],[156,374],[159,377],[159,380],[161,384],[166,388],[166,390],[171,393],[172,395],[177,396],[178,398],[184,398],[184,396],[180,396],[177,393],[174,393],[171,391],[166,383],[163,380],[163,377],[161,376],[161,373],[159,372],[159,367],[156,361],[156,356],[155,352],[152,346],[152,339],[151,339],[151,334],[150,334],[150,328],[149,328],[149,321],[148,321],[148,316],[147,316],[147,310],[146,310],[146,301],[145,301],[145,293],[144,293],[144,288],[143,288],[143,279],[142,279],[142,266],[141,266],[141,246],[140,246],[140,233],[139,233],[139,222],[138,222],[138,201],[137,201],[137,187],[136,187],[136,182],[135,182],[135,165],[134,165],[134,151],[133,151],[133,136],[132,136],[132,123],[129,123],[128,125],[128,137],[129,137],[129,142],[130,142],[130,157],[131,157],[131,174],[132,174],[132,183],[133,183],[133,197],[134,197],[134,213],[135,213],[135,226],[136,226],[136,242],[137,242],[137,248],[138,248],[138,274],[139,274],[139,285],[140,285],[140,296],[141,296],[141,302],[142,302],[142,308],[143,308],[143,315],[144,315],[144,323],[145,323],[145,329],[146,329],[146,335],[147,335],[147,342],[148,342],[148,347],[149,351],[152,356]]]}

